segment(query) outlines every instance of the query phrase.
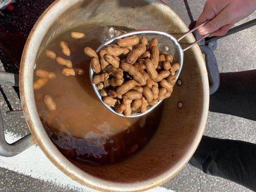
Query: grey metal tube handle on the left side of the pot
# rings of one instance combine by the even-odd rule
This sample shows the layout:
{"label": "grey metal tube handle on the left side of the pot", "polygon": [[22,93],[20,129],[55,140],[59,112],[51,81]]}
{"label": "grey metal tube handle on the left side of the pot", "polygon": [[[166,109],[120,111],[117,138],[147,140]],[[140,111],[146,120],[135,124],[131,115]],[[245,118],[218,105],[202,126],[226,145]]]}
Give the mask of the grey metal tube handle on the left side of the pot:
{"label": "grey metal tube handle on the left side of the pot", "polygon": [[[0,84],[19,86],[19,75],[0,71]],[[18,141],[8,144],[4,137],[3,119],[0,112],[0,156],[15,156],[36,144],[31,134],[24,136]]]}

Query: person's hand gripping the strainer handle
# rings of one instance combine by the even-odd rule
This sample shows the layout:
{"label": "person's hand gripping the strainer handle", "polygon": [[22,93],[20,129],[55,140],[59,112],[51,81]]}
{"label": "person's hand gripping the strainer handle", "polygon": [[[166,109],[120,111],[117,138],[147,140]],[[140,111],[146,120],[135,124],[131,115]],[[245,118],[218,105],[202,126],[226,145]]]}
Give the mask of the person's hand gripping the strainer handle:
{"label": "person's hand gripping the strainer handle", "polygon": [[207,0],[197,25],[209,20],[198,28],[200,35],[224,36],[240,20],[256,10],[256,0]]}

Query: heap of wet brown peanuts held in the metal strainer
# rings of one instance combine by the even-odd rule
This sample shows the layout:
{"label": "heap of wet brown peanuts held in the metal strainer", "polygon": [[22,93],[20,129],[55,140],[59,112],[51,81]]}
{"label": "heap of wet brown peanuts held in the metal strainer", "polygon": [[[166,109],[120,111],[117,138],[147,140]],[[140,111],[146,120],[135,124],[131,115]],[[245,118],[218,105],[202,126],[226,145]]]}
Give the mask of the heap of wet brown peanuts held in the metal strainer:
{"label": "heap of wet brown peanuts held in the metal strainer", "polygon": [[85,54],[92,57],[92,83],[104,103],[125,116],[144,113],[170,97],[180,69],[172,55],[159,52],[158,39],[148,43],[144,36],[119,39],[117,45],[106,46],[99,54],[87,47]]}

